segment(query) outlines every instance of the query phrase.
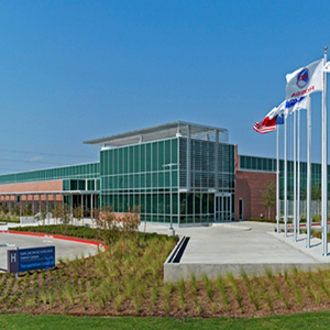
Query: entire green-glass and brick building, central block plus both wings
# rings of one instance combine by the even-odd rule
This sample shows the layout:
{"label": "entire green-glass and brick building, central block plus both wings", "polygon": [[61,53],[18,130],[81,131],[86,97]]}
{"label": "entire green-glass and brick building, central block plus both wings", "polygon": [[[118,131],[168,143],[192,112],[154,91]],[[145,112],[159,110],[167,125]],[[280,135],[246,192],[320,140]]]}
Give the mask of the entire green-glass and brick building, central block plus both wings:
{"label": "entire green-glass and brick building, central block plus both wings", "polygon": [[[116,213],[138,207],[142,221],[198,226],[260,218],[263,190],[276,182],[275,160],[239,155],[221,128],[177,121],[84,143],[100,147],[98,163],[0,175],[0,204],[20,212],[26,205],[34,212],[42,204],[81,205],[87,216],[103,206]],[[282,191],[283,162],[279,170]],[[319,164],[312,173],[319,184]]]}

